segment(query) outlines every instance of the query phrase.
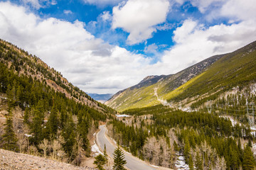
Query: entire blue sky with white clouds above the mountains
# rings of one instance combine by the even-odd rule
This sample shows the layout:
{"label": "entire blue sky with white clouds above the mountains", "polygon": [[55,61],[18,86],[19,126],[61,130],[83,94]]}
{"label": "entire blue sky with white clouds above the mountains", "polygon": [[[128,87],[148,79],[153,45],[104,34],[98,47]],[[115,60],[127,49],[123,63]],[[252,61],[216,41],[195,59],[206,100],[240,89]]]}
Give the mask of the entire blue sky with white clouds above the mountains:
{"label": "entire blue sky with white clouds above the mountains", "polygon": [[255,0],[0,0],[0,38],[115,94],[256,40]]}

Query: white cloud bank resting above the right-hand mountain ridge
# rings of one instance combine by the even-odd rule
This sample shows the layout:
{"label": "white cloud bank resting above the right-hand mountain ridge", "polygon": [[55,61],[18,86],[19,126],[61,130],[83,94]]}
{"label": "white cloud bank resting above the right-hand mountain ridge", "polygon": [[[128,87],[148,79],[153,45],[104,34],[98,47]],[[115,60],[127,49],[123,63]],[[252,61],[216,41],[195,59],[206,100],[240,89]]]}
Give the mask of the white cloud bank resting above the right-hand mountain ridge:
{"label": "white cloud bank resting above the right-hand mountain ridge", "polygon": [[[243,21],[226,26],[224,24],[205,28],[197,21],[188,19],[174,31],[176,45],[166,50],[159,63],[161,74],[185,69],[213,55],[233,52],[256,40],[256,23]],[[171,72],[170,72],[171,73]]]}

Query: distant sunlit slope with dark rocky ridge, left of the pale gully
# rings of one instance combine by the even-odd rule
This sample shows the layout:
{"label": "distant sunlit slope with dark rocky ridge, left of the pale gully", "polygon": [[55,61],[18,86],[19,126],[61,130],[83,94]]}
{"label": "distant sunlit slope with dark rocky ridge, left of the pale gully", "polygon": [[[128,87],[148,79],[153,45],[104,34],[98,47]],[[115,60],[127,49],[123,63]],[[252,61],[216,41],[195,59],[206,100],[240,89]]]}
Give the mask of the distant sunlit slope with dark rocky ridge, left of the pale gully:
{"label": "distant sunlit slope with dark rocky ridge, left of the pale gully", "polygon": [[196,75],[207,69],[221,57],[223,55],[210,57],[176,74],[146,77],[139,84],[114,94],[105,104],[117,109],[117,111],[124,111],[129,108],[140,108],[165,103],[161,96],[168,94],[188,80],[196,77]]}

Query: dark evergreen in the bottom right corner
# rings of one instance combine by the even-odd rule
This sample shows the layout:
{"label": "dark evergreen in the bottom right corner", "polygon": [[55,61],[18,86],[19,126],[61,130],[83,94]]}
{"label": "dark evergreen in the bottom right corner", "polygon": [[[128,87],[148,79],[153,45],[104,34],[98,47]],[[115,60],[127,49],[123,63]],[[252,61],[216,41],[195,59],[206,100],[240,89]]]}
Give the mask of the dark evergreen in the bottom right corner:
{"label": "dark evergreen in the bottom right corner", "polygon": [[245,148],[245,152],[243,154],[242,169],[243,170],[255,169],[255,159],[253,157],[252,150],[248,145]]}

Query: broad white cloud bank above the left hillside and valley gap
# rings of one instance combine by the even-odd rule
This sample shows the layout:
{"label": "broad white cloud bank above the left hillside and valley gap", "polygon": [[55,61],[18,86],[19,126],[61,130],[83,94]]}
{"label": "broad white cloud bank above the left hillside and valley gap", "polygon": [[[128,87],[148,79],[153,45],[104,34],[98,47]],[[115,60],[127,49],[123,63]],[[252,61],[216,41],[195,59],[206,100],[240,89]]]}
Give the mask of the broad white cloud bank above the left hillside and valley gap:
{"label": "broad white cloud bank above the left hillside and valley gap", "polygon": [[80,21],[42,19],[0,2],[0,22],[1,39],[40,57],[84,91],[115,93],[146,76],[142,69],[149,59],[95,38]]}

